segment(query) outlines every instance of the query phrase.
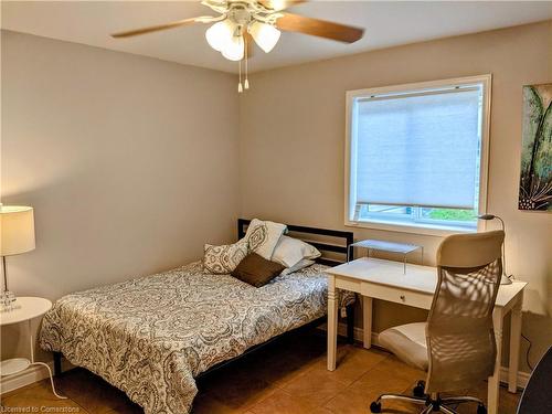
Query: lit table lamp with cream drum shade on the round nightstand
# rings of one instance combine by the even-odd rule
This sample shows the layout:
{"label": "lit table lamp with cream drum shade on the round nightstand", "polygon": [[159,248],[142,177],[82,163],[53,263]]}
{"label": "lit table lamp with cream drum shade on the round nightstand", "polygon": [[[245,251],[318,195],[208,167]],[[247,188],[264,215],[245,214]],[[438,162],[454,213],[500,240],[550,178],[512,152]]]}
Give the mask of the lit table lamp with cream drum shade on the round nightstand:
{"label": "lit table lamp with cream drum shade on the round nightstand", "polygon": [[0,204],[0,256],[2,256],[3,286],[0,293],[0,311],[15,309],[15,295],[8,289],[6,256],[34,250],[33,209],[22,205]]}

